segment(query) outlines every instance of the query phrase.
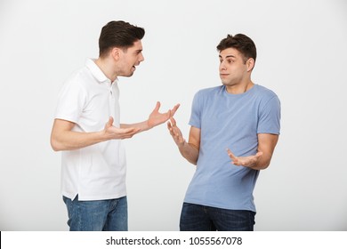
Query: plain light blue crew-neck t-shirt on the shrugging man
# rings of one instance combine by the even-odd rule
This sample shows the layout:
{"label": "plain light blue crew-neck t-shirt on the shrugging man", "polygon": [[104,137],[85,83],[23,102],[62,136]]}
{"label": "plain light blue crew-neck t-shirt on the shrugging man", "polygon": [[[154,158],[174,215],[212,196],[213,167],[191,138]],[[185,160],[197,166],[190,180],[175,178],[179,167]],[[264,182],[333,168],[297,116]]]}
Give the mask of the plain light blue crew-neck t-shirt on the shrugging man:
{"label": "plain light blue crew-neck t-shirt on the shrugging man", "polygon": [[184,202],[255,212],[259,171],[232,165],[226,149],[237,157],[255,155],[257,134],[279,134],[279,119],[278,96],[258,84],[241,94],[224,85],[197,92],[190,125],[201,129],[200,149]]}

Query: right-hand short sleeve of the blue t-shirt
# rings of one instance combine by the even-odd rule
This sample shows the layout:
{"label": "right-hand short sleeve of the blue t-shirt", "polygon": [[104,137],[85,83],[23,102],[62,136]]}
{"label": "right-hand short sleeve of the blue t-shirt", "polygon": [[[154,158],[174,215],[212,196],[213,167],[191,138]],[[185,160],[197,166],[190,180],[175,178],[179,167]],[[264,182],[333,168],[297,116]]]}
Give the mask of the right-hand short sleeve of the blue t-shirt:
{"label": "right-hand short sleeve of the blue t-shirt", "polygon": [[280,101],[275,95],[260,107],[257,133],[279,134],[280,117]]}

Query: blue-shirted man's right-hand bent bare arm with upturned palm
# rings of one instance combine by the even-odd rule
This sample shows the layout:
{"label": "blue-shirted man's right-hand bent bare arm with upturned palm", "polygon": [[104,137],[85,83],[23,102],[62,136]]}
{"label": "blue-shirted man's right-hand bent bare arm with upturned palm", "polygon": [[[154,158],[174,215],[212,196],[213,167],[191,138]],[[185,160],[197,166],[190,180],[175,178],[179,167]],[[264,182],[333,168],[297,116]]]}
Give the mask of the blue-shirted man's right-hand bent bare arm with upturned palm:
{"label": "blue-shirted man's right-hand bent bare arm with upturned palm", "polygon": [[227,149],[227,151],[233,165],[241,165],[254,170],[263,170],[270,165],[277,142],[278,135],[260,133],[258,134],[258,152],[254,156],[236,157],[230,149]]}

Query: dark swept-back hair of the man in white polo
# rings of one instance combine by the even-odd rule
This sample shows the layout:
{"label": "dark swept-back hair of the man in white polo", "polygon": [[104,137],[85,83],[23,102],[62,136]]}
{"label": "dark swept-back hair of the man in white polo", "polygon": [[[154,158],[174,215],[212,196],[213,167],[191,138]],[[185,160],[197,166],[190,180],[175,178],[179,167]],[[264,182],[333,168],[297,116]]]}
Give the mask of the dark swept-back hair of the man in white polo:
{"label": "dark swept-back hair of the man in white polo", "polygon": [[104,56],[113,47],[127,49],[145,35],[144,28],[133,26],[123,20],[111,20],[101,29],[99,55]]}

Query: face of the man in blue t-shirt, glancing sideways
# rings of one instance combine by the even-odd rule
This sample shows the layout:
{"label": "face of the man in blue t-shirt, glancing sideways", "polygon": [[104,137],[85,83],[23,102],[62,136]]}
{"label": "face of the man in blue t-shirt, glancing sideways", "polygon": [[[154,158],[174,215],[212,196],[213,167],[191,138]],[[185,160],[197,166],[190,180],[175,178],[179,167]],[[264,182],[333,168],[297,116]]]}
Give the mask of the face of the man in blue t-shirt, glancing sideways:
{"label": "face of the man in blue t-shirt, glancing sideways", "polygon": [[247,63],[238,50],[227,48],[219,54],[219,73],[222,84],[233,86],[239,84],[246,78],[248,74]]}

